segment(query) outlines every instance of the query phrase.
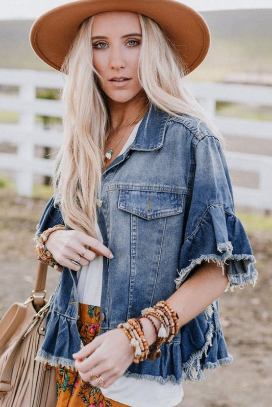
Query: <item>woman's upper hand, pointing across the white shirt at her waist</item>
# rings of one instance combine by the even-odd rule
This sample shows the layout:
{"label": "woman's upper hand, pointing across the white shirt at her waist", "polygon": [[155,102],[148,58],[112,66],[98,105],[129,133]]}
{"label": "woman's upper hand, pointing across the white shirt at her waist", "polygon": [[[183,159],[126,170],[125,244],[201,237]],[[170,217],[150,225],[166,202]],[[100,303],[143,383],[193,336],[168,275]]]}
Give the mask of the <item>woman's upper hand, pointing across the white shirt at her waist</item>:
{"label": "woman's upper hand, pointing across the white shirt at her waist", "polygon": [[113,258],[113,254],[103,243],[78,230],[56,230],[48,237],[46,248],[59,264],[76,272],[97,255]]}

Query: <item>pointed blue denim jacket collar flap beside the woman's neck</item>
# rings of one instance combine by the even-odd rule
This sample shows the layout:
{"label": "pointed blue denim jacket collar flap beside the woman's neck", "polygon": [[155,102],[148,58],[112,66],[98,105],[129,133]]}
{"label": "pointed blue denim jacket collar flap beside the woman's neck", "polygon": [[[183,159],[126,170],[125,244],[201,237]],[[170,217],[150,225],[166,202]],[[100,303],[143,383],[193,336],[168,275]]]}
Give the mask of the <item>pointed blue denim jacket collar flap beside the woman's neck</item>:
{"label": "pointed blue denim jacket collar flap beside the woman's neck", "polygon": [[169,115],[151,105],[137,131],[131,150],[151,151],[162,147]]}

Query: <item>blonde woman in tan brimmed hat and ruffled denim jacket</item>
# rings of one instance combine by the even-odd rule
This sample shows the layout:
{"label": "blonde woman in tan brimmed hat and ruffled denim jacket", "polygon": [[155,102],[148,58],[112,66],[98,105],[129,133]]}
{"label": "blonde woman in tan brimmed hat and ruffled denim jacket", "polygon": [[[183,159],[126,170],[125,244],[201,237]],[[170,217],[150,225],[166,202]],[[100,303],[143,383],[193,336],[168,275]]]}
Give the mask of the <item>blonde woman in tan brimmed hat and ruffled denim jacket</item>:
{"label": "blonde woman in tan brimmed hat and ruffled denim jacket", "polygon": [[172,407],[182,381],[232,361],[216,299],[257,278],[218,135],[181,86],[207,25],[172,0],[84,0],[31,41],[67,74],[37,231],[62,275],[38,359],[57,366],[58,407]]}

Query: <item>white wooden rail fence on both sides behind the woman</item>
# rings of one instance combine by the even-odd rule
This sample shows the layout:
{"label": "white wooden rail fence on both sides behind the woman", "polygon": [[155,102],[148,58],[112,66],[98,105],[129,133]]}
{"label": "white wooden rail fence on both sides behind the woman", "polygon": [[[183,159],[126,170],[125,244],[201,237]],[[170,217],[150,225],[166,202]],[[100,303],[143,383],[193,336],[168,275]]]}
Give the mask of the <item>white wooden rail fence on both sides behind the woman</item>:
{"label": "white wooden rail fence on both sides behind the woman", "polygon": [[[0,170],[16,175],[19,195],[31,196],[34,175],[51,176],[54,163],[50,159],[35,157],[35,146],[59,147],[63,134],[56,129],[45,130],[36,124],[36,116],[62,116],[59,101],[38,99],[37,88],[61,89],[63,78],[55,72],[0,69],[0,86],[18,87],[18,95],[0,96],[0,111],[18,112],[18,124],[0,123],[0,143],[17,146],[16,154],[0,153]],[[241,138],[269,140],[272,145],[272,121],[259,121],[220,117],[216,115],[216,102],[252,103],[272,106],[272,88],[265,86],[232,85],[220,83],[190,83],[193,94],[200,99],[207,115],[223,134]],[[272,156],[226,152],[230,169],[257,174],[256,188],[234,186],[236,204],[272,210]]]}

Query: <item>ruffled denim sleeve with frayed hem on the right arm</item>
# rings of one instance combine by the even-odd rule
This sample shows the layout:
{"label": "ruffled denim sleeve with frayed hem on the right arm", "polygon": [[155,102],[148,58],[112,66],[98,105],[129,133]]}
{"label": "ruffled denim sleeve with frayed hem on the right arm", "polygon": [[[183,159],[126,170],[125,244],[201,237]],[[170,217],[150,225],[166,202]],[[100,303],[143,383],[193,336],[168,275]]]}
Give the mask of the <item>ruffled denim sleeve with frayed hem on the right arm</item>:
{"label": "ruffled denim sleeve with frayed hem on the right arm", "polygon": [[192,198],[180,254],[177,288],[203,261],[227,264],[227,289],[255,284],[255,257],[246,232],[234,214],[233,194],[224,153],[218,140],[206,135],[195,146]]}

